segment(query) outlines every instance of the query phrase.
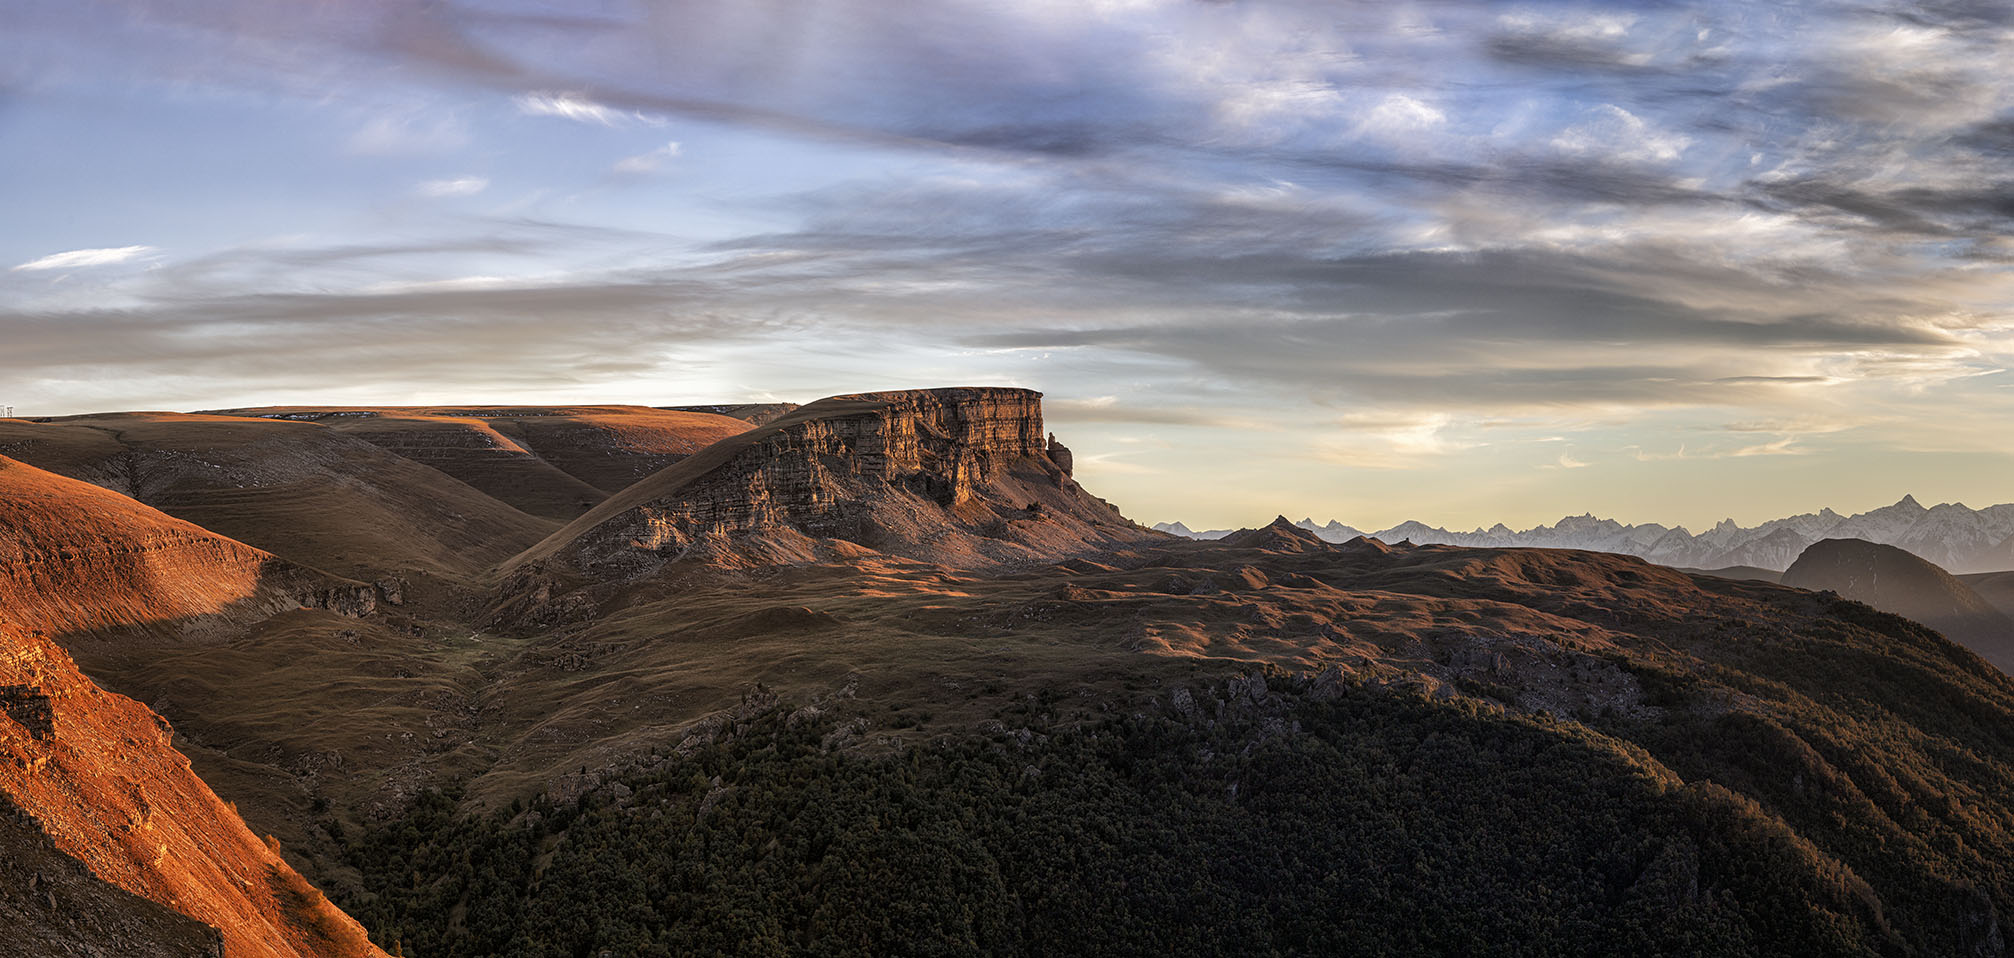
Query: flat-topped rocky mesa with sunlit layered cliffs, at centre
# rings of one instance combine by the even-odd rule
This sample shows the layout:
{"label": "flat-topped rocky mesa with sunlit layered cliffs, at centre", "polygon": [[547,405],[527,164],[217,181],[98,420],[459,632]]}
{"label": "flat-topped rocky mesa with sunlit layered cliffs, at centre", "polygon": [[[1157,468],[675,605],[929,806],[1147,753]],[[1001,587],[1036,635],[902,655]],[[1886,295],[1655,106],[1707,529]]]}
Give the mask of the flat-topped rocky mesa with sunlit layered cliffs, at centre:
{"label": "flat-topped rocky mesa with sunlit layered cliffs, at centre", "polygon": [[681,557],[806,562],[860,549],[997,568],[1156,537],[1071,481],[1041,392],[834,396],[723,439],[526,551],[596,580]]}

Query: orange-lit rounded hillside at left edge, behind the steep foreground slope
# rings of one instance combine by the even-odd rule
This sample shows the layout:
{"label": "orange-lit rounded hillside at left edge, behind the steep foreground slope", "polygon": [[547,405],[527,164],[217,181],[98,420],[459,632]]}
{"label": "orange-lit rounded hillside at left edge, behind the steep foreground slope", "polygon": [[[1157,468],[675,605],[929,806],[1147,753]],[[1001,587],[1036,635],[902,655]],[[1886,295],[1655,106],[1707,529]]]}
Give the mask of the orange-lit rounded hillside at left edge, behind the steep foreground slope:
{"label": "orange-lit rounded hillside at left edge, behind the steep foreground slope", "polygon": [[0,457],[0,628],[179,632],[290,608],[367,614],[379,590],[278,560],[125,495]]}

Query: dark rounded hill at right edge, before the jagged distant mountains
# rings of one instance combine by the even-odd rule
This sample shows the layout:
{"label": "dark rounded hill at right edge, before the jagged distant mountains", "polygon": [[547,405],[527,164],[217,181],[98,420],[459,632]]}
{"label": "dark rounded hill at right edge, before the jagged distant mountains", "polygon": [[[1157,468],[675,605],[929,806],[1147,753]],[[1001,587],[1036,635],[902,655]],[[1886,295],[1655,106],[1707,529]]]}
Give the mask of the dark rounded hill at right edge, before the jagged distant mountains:
{"label": "dark rounded hill at right edge, before the jagged distant mountains", "polygon": [[1881,612],[1913,618],[2014,672],[2014,620],[1956,576],[1895,545],[1817,541],[1782,574],[1782,584],[1833,590]]}

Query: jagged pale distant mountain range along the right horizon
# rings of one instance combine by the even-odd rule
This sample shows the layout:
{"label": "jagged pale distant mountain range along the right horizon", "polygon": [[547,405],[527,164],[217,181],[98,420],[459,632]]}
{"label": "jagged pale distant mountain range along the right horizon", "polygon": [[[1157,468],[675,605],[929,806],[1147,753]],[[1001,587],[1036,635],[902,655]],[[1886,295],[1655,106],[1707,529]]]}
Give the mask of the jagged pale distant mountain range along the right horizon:
{"label": "jagged pale distant mountain range along the right horizon", "polygon": [[[1950,572],[2014,570],[2014,503],[1990,505],[1986,509],[1939,503],[1925,509],[1913,495],[1903,495],[1895,505],[1883,505],[1859,515],[1839,515],[1833,509],[1819,509],[1786,519],[1770,519],[1754,527],[1722,519],[1698,535],[1684,525],[1625,525],[1615,519],[1597,519],[1593,513],[1569,515],[1553,525],[1537,525],[1525,531],[1502,523],[1488,529],[1450,531],[1412,519],[1378,531],[1361,531],[1333,519],[1327,523],[1301,519],[1295,525],[1327,541],[1349,541],[1357,535],[1368,535],[1388,543],[1410,539],[1422,545],[1591,549],[1641,555],[1662,566],[1694,570],[1754,566],[1772,572],[1790,568],[1805,547],[1815,541],[1867,539],[1913,551]],[[1194,531],[1178,521],[1156,523],[1154,529],[1190,539],[1220,539],[1235,531]]]}

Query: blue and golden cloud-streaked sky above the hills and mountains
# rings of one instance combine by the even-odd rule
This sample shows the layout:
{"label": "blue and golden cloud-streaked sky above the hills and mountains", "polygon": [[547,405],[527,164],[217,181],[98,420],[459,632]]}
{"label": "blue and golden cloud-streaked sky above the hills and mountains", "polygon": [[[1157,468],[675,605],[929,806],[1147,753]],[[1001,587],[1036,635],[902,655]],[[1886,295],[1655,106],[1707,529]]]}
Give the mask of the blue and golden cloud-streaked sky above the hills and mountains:
{"label": "blue and golden cloud-streaked sky above the hills and mountains", "polygon": [[0,403],[1045,392],[1142,521],[2014,501],[2014,8],[10,0]]}

